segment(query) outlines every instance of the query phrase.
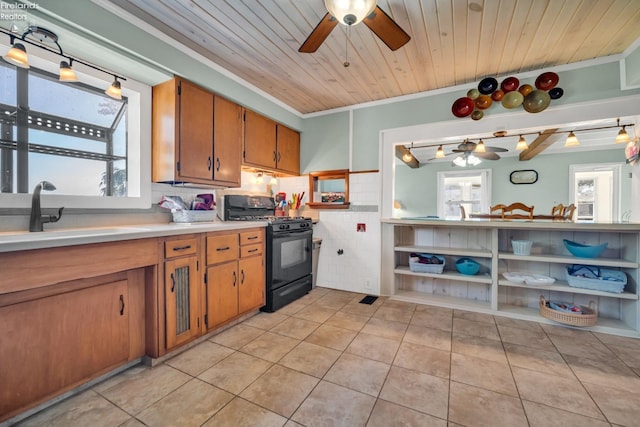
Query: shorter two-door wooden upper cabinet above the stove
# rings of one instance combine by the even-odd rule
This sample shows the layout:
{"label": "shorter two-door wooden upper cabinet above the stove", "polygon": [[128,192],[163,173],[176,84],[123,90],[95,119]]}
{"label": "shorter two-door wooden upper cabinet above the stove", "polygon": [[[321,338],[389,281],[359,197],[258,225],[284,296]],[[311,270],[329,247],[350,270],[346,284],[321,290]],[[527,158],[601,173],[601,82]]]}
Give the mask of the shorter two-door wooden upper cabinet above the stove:
{"label": "shorter two-door wooden upper cabinet above the stove", "polygon": [[300,174],[300,134],[250,110],[244,115],[244,165]]}

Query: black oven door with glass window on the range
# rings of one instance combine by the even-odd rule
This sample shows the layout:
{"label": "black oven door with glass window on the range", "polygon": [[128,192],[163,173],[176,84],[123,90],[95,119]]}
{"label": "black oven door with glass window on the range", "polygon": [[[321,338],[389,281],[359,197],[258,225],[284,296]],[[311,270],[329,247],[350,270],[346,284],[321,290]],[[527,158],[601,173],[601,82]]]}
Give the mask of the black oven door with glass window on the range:
{"label": "black oven door with glass window on the range", "polygon": [[273,234],[271,289],[311,274],[312,240],[312,230]]}

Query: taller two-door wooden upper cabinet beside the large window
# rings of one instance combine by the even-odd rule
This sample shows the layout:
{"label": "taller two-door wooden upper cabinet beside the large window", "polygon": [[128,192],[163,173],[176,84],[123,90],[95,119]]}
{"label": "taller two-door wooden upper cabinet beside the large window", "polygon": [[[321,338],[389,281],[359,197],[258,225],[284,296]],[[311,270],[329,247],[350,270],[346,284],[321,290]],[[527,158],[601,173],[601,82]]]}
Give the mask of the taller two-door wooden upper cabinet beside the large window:
{"label": "taller two-door wooden upper cabinet beside the large window", "polygon": [[181,78],[153,87],[152,180],[240,185],[242,107]]}

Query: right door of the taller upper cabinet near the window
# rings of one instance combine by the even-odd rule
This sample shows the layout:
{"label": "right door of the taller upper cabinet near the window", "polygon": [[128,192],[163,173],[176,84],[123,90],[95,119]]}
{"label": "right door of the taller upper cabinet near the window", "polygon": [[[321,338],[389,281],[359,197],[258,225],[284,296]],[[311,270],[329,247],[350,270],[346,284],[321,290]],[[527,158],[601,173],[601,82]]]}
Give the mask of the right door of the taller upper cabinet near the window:
{"label": "right door of the taller upper cabinet near the window", "polygon": [[240,186],[242,107],[216,96],[213,107],[213,179]]}

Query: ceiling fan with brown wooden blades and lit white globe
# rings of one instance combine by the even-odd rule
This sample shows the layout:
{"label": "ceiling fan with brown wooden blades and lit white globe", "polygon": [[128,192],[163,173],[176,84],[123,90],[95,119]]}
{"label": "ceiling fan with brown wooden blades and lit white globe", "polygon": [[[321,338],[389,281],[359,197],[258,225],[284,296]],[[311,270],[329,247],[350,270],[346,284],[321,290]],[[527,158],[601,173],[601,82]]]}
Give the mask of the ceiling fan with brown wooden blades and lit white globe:
{"label": "ceiling fan with brown wooden blades and lit white globe", "polygon": [[298,52],[313,53],[318,50],[338,22],[349,27],[364,22],[391,50],[397,50],[411,40],[377,5],[376,0],[325,0],[324,4],[328,12],[302,43]]}

